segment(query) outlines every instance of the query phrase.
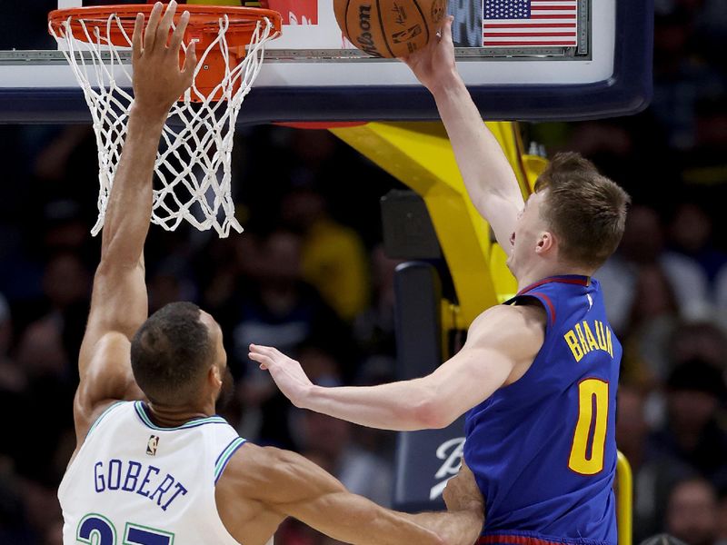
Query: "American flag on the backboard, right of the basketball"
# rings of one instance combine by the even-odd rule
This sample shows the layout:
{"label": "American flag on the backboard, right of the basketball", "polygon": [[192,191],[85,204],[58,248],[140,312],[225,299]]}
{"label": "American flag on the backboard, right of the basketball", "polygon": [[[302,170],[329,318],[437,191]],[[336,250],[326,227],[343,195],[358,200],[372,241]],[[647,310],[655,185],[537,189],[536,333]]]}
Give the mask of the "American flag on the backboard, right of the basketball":
{"label": "American flag on the backboard, right of the basketball", "polygon": [[484,47],[575,46],[577,0],[483,0]]}

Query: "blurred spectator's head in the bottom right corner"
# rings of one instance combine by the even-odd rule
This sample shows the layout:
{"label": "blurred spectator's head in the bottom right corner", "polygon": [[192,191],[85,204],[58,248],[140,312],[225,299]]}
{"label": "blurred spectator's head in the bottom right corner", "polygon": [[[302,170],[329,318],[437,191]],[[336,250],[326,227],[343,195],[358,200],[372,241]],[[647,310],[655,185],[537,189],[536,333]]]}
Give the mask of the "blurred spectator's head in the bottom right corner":
{"label": "blurred spectator's head in the bottom right corner", "polygon": [[710,481],[681,481],[669,495],[666,530],[690,545],[716,545],[717,493]]}

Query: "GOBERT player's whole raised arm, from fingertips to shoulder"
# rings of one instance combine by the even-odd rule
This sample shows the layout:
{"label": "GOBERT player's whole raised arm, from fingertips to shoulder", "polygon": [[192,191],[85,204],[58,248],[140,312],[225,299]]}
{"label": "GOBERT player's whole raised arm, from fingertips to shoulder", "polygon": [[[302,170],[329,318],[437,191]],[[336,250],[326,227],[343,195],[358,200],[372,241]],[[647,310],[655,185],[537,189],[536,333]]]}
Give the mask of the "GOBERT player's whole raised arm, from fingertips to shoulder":
{"label": "GOBERT player's whole raised arm, from fingertips to shoulder", "polygon": [[[134,26],[134,104],[123,153],[105,213],[101,262],[95,272],[91,310],[79,354],[81,378],[74,415],[80,442],[98,411],[109,401],[139,398],[131,372],[130,341],[147,317],[144,241],[152,213],[154,159],[166,115],[192,82],[194,50],[179,66],[189,15],[169,39],[176,4],[159,3],[144,29]],[[168,44],[167,44],[167,40]]]}

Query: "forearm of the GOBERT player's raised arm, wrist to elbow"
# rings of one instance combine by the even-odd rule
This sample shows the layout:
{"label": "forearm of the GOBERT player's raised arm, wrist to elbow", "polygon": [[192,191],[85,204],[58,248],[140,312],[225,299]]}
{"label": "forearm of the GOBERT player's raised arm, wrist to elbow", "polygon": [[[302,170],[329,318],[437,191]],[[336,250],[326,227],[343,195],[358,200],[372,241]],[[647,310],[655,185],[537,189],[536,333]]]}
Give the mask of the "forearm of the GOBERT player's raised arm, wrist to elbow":
{"label": "forearm of the GOBERT player's raised arm, wrist to elbow", "polygon": [[124,149],[106,207],[102,263],[136,266],[152,213],[152,177],[166,113],[141,110],[129,115]]}

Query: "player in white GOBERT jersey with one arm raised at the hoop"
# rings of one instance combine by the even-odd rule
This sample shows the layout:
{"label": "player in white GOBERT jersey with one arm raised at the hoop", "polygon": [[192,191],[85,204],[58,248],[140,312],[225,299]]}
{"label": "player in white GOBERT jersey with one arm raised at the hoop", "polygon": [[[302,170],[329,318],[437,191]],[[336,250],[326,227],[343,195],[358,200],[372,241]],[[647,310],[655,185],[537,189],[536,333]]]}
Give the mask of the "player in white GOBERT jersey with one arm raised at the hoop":
{"label": "player in white GOBERT jersey with one arm raised at the hoop", "polygon": [[77,447],[58,491],[64,543],[261,545],[287,516],[351,543],[473,543],[482,499],[463,471],[446,513],[409,515],[356,496],[314,463],[257,447],[215,416],[226,370],[217,322],[192,303],[147,319],[144,241],[164,120],[192,83],[179,66],[189,15],[176,5],[134,28],[134,95],[79,355]]}

